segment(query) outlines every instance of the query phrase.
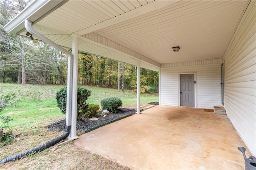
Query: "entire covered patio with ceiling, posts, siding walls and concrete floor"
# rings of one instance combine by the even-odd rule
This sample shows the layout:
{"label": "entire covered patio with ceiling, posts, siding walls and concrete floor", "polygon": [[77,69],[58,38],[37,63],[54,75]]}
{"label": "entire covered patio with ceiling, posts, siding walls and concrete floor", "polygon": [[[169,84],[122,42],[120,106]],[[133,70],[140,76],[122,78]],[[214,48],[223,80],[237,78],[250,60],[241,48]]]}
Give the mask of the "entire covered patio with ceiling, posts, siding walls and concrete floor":
{"label": "entire covered patio with ceiling, posts, siding walls and concrete floor", "polygon": [[[160,106],[76,144],[135,169],[241,169],[237,146],[256,154],[255,8],[252,0],[36,0],[4,30],[68,55],[70,140],[78,138],[78,51],[136,66],[137,113],[140,68],[158,71]],[[226,115],[202,110],[214,106]]]}

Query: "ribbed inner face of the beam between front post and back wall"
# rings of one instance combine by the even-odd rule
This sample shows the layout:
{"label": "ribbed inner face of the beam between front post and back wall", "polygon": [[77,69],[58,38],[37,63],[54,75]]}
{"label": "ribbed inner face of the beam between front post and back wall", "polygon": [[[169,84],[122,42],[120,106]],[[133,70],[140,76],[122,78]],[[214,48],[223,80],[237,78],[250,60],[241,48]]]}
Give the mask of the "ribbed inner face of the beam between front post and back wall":
{"label": "ribbed inner face of the beam between front post and back wall", "polygon": [[[131,57],[133,59],[141,59],[142,61],[144,61],[145,63],[148,63],[154,67],[159,68],[161,65],[160,63],[145,57],[144,55],[141,55],[140,53],[137,53],[136,51],[133,51],[127,47],[124,47],[116,42],[113,42],[111,40],[108,40],[107,38],[104,38],[98,34],[95,33],[89,33],[86,34],[84,36],[79,36],[76,34],[73,34],[72,36],[78,36],[78,38],[82,41],[88,42],[88,43],[92,43],[94,45],[98,45],[100,47],[104,47],[106,49],[109,49],[111,51],[115,51],[117,53],[120,53],[122,55],[126,55],[127,57]],[[95,38],[95,40],[93,40],[93,37],[97,37]],[[100,41],[100,42],[99,42]]]}

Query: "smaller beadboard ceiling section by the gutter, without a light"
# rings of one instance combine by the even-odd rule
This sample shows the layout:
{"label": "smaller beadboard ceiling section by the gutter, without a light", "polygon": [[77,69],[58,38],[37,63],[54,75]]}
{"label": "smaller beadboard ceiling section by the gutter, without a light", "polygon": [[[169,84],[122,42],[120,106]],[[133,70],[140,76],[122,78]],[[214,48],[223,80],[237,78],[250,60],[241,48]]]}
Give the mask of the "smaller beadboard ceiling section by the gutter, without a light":
{"label": "smaller beadboard ceiling section by the gutter, without a light", "polygon": [[142,5],[136,0],[71,0],[48,14],[38,24],[45,25],[49,23],[55,31],[66,30],[69,34],[72,34],[140,6]]}

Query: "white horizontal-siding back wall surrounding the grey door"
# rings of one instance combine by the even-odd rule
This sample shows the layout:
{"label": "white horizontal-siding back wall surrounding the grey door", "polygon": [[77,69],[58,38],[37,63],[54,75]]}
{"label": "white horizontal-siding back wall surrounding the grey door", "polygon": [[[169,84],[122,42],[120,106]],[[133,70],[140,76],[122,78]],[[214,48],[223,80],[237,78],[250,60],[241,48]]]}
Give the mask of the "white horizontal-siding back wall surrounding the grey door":
{"label": "white horizontal-siding back wall surrounding the grey door", "polygon": [[213,106],[222,106],[221,64],[222,59],[162,64],[160,71],[161,105],[179,106],[179,75],[195,73],[196,107],[213,109]]}

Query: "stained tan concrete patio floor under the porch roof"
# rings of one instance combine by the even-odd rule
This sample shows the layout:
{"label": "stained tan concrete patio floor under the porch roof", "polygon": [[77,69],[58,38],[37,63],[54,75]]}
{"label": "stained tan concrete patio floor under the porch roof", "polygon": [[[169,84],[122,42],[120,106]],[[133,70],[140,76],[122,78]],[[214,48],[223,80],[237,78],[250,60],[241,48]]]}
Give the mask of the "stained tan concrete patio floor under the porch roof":
{"label": "stained tan concrete patio floor under the porch roof", "polygon": [[74,143],[136,170],[244,169],[237,147],[247,149],[227,115],[170,106],[98,128]]}

